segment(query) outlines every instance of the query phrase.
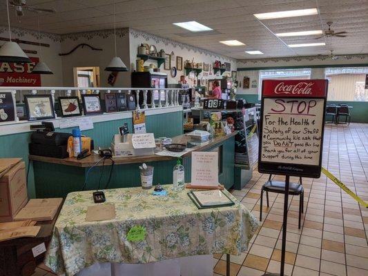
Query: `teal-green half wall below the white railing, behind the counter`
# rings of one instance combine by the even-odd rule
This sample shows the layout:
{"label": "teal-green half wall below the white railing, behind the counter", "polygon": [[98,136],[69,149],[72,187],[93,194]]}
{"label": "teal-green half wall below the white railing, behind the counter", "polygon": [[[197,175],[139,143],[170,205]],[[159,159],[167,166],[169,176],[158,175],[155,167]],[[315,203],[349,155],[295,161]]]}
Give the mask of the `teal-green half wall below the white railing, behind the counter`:
{"label": "teal-green half wall below the white railing, behind the counter", "polygon": [[[93,124],[93,130],[82,131],[82,135],[92,137],[95,143],[95,148],[106,148],[110,146],[111,139],[114,134],[118,133],[118,127],[128,123],[130,133],[132,131],[132,119],[120,119],[114,121],[104,121]],[[146,116],[147,132],[154,132],[155,137],[174,137],[183,133],[183,112],[168,112],[160,115]],[[57,132],[72,132],[72,128],[56,128]],[[28,166],[28,144],[30,143],[31,132],[17,133],[14,135],[0,136],[0,158],[1,157],[21,157],[26,161]],[[38,176],[39,177],[39,176]],[[50,177],[50,185],[52,185],[52,177]],[[28,197],[34,198],[35,177],[33,175],[33,166],[30,166],[28,176]]]}

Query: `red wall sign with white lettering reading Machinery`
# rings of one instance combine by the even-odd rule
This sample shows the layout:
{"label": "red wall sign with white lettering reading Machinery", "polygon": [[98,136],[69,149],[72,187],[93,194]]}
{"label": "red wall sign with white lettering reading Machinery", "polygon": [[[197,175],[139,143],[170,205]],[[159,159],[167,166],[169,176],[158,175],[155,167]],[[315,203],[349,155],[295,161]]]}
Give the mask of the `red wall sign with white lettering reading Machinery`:
{"label": "red wall sign with white lettering reading Machinery", "polygon": [[0,86],[41,86],[41,76],[31,73],[39,58],[30,60],[32,63],[0,62]]}

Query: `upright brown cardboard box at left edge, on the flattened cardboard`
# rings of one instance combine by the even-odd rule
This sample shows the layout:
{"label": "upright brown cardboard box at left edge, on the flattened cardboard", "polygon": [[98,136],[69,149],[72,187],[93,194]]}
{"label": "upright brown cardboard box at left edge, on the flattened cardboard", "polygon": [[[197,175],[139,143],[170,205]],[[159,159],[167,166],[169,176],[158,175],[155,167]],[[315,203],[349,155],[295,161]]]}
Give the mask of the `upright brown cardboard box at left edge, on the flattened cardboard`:
{"label": "upright brown cardboard box at left edge, on the flattened cardboard", "polygon": [[0,178],[0,222],[13,218],[27,201],[26,167],[19,162]]}

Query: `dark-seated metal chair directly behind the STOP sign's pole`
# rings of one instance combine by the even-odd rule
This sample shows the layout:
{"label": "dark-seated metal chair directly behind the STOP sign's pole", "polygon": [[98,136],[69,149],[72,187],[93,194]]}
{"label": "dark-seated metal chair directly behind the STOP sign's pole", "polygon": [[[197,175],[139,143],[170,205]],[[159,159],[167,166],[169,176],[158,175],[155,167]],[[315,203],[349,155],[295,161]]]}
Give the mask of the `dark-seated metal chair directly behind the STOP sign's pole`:
{"label": "dark-seated metal chair directly behind the STOP sign's pole", "polygon": [[[269,181],[267,181],[262,186],[261,190],[261,208],[260,208],[260,221],[262,221],[262,204],[263,204],[263,193],[266,191],[267,207],[269,207],[269,192],[285,194],[285,181],[273,181],[271,180],[272,175],[269,176]],[[302,186],[302,177],[300,177],[300,184],[290,183],[289,184],[289,195],[299,195],[299,223],[298,227],[300,229],[300,219],[302,218],[302,213],[304,213],[304,188]]]}

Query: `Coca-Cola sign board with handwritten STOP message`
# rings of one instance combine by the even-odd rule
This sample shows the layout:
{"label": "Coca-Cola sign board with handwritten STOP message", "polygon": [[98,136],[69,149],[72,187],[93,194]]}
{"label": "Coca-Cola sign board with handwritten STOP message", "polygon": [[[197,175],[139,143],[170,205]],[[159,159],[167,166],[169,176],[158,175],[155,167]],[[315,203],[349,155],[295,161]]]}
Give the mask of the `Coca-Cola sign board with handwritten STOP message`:
{"label": "Coca-Cola sign board with handwritten STOP message", "polygon": [[327,80],[264,80],[258,170],[320,177]]}

